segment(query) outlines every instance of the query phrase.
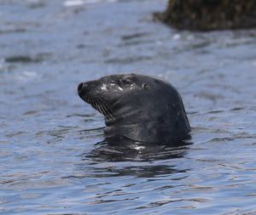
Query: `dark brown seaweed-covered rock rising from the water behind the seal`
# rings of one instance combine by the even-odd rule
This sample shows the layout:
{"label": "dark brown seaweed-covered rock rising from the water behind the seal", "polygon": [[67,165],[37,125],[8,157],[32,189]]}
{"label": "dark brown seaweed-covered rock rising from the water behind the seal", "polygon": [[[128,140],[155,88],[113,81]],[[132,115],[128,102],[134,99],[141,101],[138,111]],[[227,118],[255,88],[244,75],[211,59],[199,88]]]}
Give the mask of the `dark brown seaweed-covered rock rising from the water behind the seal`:
{"label": "dark brown seaweed-covered rock rising from the water behind the seal", "polygon": [[249,29],[256,26],[256,0],[169,0],[154,17],[192,31]]}

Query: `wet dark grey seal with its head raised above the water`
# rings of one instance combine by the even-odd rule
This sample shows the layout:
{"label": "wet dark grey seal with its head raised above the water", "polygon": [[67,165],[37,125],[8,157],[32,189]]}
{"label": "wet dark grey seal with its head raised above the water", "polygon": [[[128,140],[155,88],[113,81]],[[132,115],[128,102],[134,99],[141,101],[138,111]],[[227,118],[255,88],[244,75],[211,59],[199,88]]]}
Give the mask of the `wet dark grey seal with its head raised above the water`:
{"label": "wet dark grey seal with its head raised above the water", "polygon": [[183,101],[169,82],[139,74],[118,74],[81,82],[81,99],[105,118],[106,138],[175,144],[190,126]]}

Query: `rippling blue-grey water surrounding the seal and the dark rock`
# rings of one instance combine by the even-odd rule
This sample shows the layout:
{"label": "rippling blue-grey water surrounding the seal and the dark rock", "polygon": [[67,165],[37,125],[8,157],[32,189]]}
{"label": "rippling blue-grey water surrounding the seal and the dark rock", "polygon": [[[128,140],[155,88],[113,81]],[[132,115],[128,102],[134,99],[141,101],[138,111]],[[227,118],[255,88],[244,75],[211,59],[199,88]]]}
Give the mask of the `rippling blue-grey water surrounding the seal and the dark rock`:
{"label": "rippling blue-grey water surrounding the seal and the dark rock", "polygon": [[[256,30],[177,31],[166,3],[0,2],[0,214],[256,214]],[[172,82],[189,144],[104,143],[77,85],[126,72]]]}

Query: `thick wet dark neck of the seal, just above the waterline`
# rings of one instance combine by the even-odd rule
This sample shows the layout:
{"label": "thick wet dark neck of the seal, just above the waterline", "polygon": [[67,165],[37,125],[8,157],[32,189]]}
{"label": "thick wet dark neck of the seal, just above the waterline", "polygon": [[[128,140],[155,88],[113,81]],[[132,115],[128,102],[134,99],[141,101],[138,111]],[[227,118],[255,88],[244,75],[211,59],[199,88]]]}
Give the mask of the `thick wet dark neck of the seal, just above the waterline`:
{"label": "thick wet dark neck of the seal, just above the waterline", "polygon": [[183,106],[177,103],[148,103],[137,105],[136,109],[127,104],[113,116],[105,118],[107,137],[125,136],[139,142],[166,143],[182,139],[190,130]]}

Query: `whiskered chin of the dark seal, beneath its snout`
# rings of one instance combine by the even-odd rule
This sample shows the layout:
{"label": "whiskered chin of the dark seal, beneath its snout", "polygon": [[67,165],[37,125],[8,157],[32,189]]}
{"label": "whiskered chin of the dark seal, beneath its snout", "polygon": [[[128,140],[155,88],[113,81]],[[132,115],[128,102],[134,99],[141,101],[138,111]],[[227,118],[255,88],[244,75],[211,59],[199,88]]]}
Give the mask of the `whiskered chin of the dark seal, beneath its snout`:
{"label": "whiskered chin of the dark seal, beneath its snout", "polygon": [[113,118],[113,109],[104,99],[89,97],[81,97],[81,99],[90,104],[94,109],[98,110],[103,116]]}

